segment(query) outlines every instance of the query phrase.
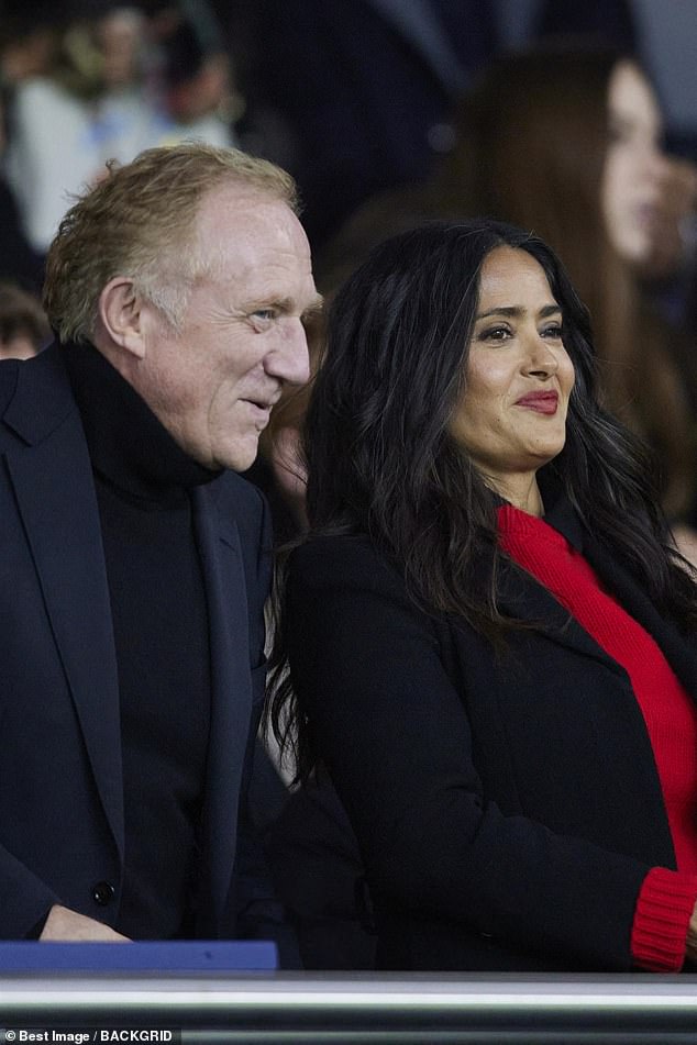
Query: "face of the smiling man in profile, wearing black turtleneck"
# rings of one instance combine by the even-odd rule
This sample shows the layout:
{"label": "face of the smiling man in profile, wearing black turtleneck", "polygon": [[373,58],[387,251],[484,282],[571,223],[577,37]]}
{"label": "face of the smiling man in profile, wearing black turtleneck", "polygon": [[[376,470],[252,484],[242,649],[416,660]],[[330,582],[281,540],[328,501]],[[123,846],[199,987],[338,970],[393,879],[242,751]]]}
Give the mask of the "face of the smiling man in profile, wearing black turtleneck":
{"label": "face of the smiling man in profile, wearing black turtleneck", "polygon": [[303,320],[320,298],[307,236],[286,203],[217,189],[198,231],[210,270],[190,291],[180,331],[144,307],[145,355],[130,379],[190,457],[244,471],[284,385],[309,378]]}

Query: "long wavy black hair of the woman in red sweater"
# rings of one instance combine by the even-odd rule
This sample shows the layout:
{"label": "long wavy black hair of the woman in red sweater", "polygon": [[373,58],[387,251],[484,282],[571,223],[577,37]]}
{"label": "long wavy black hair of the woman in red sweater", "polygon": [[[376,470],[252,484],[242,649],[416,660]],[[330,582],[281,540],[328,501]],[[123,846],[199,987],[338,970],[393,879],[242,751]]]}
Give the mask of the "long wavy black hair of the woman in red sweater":
{"label": "long wavy black hair of the woman in red sweater", "polygon": [[[588,313],[563,266],[536,236],[489,220],[432,222],[378,246],[339,291],[306,419],[311,534],[365,534],[403,575],[427,612],[454,614],[500,644],[500,500],[449,432],[464,386],[487,255],[507,245],[545,271],[574,363],[567,437],[543,473],[582,522],[686,633],[697,588],[666,545],[653,464],[596,399]],[[285,670],[283,570],[267,718],[283,743],[297,731],[299,772],[313,757]]]}

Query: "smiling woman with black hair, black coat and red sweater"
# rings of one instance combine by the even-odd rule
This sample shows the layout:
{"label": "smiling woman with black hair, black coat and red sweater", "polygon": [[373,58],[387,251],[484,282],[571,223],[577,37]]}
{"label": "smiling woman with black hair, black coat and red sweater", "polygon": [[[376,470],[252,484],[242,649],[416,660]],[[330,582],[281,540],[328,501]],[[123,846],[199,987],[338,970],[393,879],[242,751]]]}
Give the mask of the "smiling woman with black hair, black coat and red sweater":
{"label": "smiling woman with black hair, black coat and red sweater", "polygon": [[332,308],[273,714],[345,804],[383,968],[697,956],[696,585],[595,389],[511,226],[396,236]]}

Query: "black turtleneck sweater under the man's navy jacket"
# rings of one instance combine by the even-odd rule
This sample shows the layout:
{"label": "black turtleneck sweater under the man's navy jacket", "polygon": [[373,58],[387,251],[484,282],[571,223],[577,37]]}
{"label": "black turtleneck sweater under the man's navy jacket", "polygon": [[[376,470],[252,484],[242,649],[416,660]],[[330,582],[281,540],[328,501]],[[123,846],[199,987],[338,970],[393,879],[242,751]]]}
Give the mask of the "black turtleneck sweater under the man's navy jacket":
{"label": "black turtleneck sweater under the man's navy jacket", "polygon": [[187,936],[210,720],[191,493],[215,474],[96,348],[64,351],[95,475],[119,669],[125,867],[114,927]]}

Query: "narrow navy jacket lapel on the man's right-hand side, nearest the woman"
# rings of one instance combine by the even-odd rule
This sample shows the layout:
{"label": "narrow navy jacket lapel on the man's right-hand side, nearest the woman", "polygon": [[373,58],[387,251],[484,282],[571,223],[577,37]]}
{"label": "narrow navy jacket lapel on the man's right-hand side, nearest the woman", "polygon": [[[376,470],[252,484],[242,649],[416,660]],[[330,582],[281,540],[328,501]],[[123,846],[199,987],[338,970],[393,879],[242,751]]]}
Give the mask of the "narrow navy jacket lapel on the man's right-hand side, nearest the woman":
{"label": "narrow navy jacket lapel on the man's right-hand side, nearest the woman", "polygon": [[[246,586],[236,523],[218,508],[222,480],[193,494],[208,600],[211,729],[202,832],[202,909],[220,925],[235,857],[237,802],[252,713]],[[210,931],[210,929],[209,929]]]}

